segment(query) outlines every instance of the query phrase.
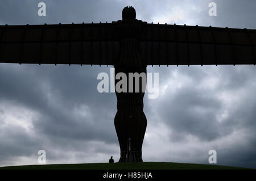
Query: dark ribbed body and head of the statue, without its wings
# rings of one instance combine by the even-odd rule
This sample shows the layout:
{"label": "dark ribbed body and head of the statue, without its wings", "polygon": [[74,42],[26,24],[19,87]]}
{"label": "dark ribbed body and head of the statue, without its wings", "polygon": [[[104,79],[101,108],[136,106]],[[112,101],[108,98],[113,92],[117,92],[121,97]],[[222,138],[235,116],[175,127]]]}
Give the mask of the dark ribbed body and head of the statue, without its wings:
{"label": "dark ribbed body and head of the statue, without its wings", "polygon": [[[129,90],[129,73],[145,73],[146,65],[141,62],[139,55],[139,35],[143,22],[135,19],[133,7],[123,9],[123,20],[116,24],[119,33],[121,52],[115,64],[115,75],[122,72],[127,77],[127,90]],[[146,80],[145,80],[146,81]],[[117,82],[115,82],[116,85]],[[145,82],[146,83],[146,82]],[[147,127],[147,119],[143,112],[144,87],[139,82],[140,90],[135,92],[117,92],[117,113],[114,124],[121,150],[119,162],[142,162],[142,144]]]}

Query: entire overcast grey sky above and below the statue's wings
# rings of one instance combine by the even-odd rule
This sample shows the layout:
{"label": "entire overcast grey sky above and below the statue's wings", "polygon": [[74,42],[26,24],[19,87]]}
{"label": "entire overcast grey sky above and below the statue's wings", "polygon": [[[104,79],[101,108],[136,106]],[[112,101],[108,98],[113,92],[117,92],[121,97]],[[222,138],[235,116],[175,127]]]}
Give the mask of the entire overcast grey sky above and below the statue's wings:
{"label": "entire overcast grey sky above and below the statue's wings", "polygon": [[[38,16],[38,3],[47,15]],[[217,16],[209,16],[216,2]],[[0,24],[112,22],[133,6],[148,23],[256,29],[255,0],[68,1],[2,0]],[[108,162],[119,159],[117,99],[97,91],[106,66],[0,64],[0,166]],[[143,161],[256,168],[256,67],[169,66],[159,73],[159,98],[144,96]]]}

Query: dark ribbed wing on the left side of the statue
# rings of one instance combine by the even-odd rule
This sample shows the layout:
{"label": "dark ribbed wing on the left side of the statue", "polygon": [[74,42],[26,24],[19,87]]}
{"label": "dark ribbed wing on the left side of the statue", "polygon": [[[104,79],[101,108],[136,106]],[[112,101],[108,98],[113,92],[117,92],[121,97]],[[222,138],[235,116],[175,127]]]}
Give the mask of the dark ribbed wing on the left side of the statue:
{"label": "dark ribbed wing on the left side of the statue", "polygon": [[0,26],[0,62],[114,65],[112,23]]}

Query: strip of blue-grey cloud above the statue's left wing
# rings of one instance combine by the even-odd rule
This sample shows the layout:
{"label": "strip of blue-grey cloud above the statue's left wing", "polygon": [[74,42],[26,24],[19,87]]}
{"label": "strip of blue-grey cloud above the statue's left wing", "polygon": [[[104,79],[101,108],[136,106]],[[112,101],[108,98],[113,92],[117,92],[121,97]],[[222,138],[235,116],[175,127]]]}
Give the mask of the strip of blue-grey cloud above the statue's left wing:
{"label": "strip of blue-grey cloud above the statue's left wing", "polygon": [[[46,3],[46,16],[38,16],[38,3]],[[110,1],[2,1],[0,23],[5,24],[59,24],[100,23],[121,19],[123,5]],[[111,5],[111,6],[110,6]]]}

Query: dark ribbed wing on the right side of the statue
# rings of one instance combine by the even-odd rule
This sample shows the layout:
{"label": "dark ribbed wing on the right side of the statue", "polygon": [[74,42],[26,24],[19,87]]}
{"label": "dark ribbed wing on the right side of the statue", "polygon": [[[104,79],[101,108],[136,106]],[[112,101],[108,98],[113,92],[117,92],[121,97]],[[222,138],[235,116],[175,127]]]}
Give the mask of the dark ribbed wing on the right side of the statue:
{"label": "dark ribbed wing on the right side of the statue", "polygon": [[139,51],[146,65],[255,65],[256,30],[146,24]]}

